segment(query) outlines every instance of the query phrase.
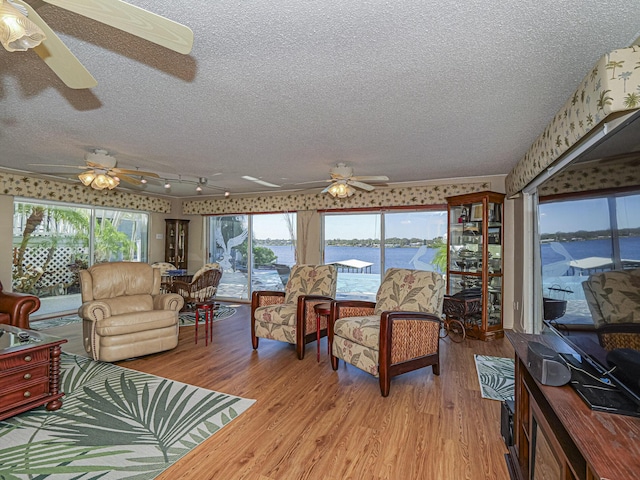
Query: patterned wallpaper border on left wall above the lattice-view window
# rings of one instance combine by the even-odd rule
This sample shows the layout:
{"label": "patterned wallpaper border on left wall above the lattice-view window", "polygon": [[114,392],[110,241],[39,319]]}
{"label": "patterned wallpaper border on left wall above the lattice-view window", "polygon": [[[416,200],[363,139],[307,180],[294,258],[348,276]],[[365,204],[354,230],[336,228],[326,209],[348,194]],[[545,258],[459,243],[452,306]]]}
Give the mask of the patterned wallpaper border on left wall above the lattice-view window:
{"label": "patterned wallpaper border on left wall above the lattice-view window", "polygon": [[109,208],[126,208],[156,213],[171,213],[171,202],[163,198],[137,195],[118,190],[94,190],[80,183],[0,172],[3,195],[38,198],[56,202],[79,203]]}

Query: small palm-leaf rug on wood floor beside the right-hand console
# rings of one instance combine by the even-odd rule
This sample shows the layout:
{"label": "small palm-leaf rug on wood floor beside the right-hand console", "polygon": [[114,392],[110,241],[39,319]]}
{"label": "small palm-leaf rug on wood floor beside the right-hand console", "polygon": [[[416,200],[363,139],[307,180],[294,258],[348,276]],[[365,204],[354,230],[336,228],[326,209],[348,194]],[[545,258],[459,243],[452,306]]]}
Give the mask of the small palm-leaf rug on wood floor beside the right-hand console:
{"label": "small palm-leaf rug on wood floor beside the right-hand console", "polygon": [[513,400],[515,371],[512,358],[474,355],[482,398]]}

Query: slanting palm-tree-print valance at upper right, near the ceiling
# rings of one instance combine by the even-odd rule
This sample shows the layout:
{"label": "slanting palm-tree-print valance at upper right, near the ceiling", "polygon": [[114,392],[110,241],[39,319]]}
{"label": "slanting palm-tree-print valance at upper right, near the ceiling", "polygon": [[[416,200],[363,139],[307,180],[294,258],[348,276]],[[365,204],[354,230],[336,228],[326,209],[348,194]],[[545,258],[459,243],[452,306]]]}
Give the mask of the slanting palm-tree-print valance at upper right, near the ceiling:
{"label": "slanting palm-tree-print valance at upper right, near the ceiling", "polygon": [[[612,113],[640,108],[640,46],[600,57],[505,180],[515,195]],[[580,179],[577,179],[580,181]]]}

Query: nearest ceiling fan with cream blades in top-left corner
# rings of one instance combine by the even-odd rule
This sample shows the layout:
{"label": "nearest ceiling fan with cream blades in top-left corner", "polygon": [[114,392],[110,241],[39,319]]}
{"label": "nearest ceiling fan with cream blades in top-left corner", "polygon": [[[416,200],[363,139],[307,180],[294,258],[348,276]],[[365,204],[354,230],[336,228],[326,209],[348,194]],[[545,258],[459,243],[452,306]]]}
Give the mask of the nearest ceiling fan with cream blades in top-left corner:
{"label": "nearest ceiling fan with cream blades in top-left corner", "polygon": [[[26,19],[19,16],[24,15],[42,30],[45,39],[33,49],[70,88],[91,88],[98,82],[36,13],[35,9],[45,3],[92,18],[178,53],[186,55],[193,46],[193,32],[189,27],[121,0],[29,0],[29,3],[23,0],[0,0],[2,17],[13,15],[18,23],[24,23]],[[17,17],[13,14],[15,10],[19,12]],[[32,45],[25,46],[27,43],[28,41],[18,42],[18,47],[14,50],[30,48]],[[13,51],[9,48],[7,50]]]}

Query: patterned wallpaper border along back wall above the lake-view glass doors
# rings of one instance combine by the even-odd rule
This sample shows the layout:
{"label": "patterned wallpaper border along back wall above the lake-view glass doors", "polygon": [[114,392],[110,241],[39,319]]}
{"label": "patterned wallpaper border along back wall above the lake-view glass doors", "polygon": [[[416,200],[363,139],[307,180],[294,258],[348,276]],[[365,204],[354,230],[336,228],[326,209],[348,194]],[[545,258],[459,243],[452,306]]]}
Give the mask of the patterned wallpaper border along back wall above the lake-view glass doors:
{"label": "patterned wallpaper border along back wall above the lake-view glass doors", "polygon": [[340,199],[326,193],[265,195],[245,198],[203,199],[185,201],[187,215],[225,213],[266,213],[300,210],[341,210],[372,207],[442,205],[453,195],[490,190],[490,182],[443,184],[419,187],[377,187],[371,192],[358,191]]}

